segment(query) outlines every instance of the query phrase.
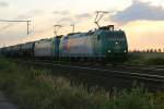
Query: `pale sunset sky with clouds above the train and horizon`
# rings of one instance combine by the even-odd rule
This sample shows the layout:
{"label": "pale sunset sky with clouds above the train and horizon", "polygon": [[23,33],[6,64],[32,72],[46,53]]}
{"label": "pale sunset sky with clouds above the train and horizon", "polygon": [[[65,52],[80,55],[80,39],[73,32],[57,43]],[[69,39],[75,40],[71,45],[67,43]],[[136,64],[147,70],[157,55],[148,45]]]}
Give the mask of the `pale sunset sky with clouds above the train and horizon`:
{"label": "pale sunset sky with clouds above the train and horizon", "polygon": [[0,20],[31,20],[0,23],[0,47],[51,38],[58,34],[94,29],[95,11],[108,11],[99,25],[114,24],[126,32],[129,49],[164,49],[164,0],[0,0]]}

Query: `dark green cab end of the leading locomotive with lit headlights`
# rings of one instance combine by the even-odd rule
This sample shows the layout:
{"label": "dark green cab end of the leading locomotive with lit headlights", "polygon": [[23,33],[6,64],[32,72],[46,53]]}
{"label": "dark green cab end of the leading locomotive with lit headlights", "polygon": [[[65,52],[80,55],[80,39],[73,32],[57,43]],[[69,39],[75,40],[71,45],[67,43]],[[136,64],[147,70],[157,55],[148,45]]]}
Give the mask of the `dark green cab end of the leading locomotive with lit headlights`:
{"label": "dark green cab end of the leading locomotive with lit headlights", "polygon": [[128,43],[124,31],[104,29],[101,33],[103,53],[109,61],[124,61],[127,59]]}

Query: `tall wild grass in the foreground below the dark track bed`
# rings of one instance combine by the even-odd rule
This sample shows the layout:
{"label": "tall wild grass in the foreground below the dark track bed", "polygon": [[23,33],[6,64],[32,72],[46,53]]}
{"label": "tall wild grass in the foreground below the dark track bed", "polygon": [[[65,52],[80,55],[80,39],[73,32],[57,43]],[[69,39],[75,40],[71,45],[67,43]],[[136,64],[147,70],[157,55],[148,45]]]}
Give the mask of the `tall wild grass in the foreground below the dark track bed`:
{"label": "tall wild grass in the foreground below the dark track bed", "polygon": [[2,57],[0,88],[20,109],[164,109],[164,93],[139,87],[113,93],[87,89],[48,70],[23,66]]}

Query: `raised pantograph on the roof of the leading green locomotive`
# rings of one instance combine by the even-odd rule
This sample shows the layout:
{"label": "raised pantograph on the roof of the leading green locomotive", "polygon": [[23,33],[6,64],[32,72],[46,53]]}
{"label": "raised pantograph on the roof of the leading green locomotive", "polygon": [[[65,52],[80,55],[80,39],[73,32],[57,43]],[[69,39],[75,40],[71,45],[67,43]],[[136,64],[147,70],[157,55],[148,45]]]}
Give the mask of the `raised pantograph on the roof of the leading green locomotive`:
{"label": "raised pantograph on the roof of the leading green locomotive", "polygon": [[107,13],[109,13],[109,12],[107,12],[107,11],[96,11],[96,17],[95,17],[94,23],[98,26],[98,28],[101,27],[99,24],[98,24],[99,21],[103,19],[104,14],[107,14]]}

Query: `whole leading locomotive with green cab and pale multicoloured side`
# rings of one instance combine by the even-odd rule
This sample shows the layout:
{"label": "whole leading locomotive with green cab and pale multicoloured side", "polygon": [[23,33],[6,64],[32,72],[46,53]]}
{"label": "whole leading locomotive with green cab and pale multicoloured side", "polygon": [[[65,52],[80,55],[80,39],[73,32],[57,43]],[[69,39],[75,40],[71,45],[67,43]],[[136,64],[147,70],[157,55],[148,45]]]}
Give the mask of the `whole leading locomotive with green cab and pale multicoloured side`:
{"label": "whole leading locomotive with green cab and pale multicoloured side", "polygon": [[114,25],[99,27],[87,33],[77,33],[60,39],[60,59],[83,59],[121,61],[128,53],[124,31],[115,31]]}

